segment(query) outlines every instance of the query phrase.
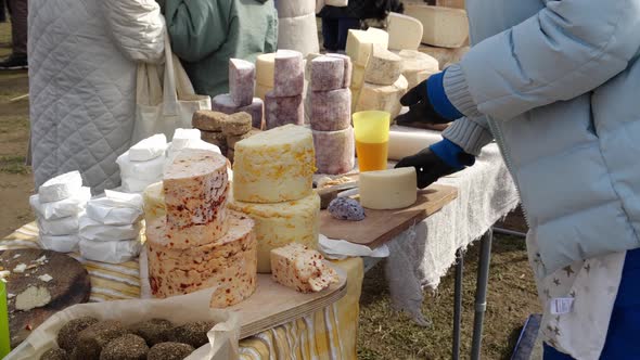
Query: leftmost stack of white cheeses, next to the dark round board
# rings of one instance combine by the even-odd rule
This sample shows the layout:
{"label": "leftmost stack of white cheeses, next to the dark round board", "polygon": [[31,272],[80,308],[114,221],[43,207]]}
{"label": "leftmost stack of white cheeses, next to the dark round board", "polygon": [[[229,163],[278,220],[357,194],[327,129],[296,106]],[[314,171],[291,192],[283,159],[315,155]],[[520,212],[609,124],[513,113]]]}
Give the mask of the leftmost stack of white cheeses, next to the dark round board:
{"label": "leftmost stack of white cheeses, next to the dark round board", "polygon": [[48,180],[29,197],[36,213],[43,248],[69,253],[77,249],[78,221],[91,189],[82,187],[80,172],[72,171]]}

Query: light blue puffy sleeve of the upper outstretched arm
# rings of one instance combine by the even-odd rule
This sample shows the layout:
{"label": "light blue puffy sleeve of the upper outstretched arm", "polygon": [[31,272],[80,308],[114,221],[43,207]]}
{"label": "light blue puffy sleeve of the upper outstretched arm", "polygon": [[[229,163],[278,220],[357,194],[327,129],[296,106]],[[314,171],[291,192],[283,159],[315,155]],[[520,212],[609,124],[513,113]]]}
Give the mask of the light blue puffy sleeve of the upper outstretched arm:
{"label": "light blue puffy sleeve of the upper outstretched arm", "polygon": [[638,53],[639,29],[640,0],[550,0],[475,44],[447,70],[445,90],[465,115],[511,119],[619,74]]}

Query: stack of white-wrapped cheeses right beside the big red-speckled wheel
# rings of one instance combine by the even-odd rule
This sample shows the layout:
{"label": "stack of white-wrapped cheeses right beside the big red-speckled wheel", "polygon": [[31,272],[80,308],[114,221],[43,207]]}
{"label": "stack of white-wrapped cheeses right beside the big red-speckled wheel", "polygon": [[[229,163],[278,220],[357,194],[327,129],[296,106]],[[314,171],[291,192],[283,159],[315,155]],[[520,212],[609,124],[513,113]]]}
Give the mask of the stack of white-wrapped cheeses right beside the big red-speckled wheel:
{"label": "stack of white-wrapped cheeses right beside the big red-speckled wheel", "polygon": [[142,196],[105,190],[87,203],[79,220],[80,255],[88,260],[120,263],[140,254]]}

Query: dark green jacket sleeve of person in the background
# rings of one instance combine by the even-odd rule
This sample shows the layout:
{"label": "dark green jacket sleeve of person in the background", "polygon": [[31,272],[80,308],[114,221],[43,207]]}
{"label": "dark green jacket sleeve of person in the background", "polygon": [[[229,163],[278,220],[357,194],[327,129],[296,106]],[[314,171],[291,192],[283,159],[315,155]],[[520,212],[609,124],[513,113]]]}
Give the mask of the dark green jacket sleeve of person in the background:
{"label": "dark green jacket sleeve of person in the background", "polygon": [[227,40],[231,0],[166,0],[165,17],[171,49],[183,61],[197,62]]}

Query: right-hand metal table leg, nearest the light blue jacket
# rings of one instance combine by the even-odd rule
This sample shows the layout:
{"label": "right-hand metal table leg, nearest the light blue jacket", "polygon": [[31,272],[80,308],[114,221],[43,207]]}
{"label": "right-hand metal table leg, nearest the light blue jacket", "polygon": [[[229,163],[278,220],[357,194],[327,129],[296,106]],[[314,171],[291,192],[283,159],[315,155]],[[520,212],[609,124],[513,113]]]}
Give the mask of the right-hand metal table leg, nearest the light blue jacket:
{"label": "right-hand metal table leg, nearest the light blue jacket", "polygon": [[475,291],[475,317],[473,319],[473,339],[471,359],[479,360],[483,338],[483,323],[487,310],[487,283],[489,281],[489,262],[491,261],[491,242],[494,231],[489,229],[481,241],[481,253],[477,269],[477,284]]}

